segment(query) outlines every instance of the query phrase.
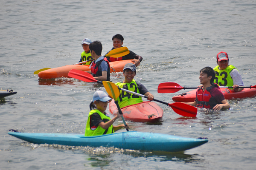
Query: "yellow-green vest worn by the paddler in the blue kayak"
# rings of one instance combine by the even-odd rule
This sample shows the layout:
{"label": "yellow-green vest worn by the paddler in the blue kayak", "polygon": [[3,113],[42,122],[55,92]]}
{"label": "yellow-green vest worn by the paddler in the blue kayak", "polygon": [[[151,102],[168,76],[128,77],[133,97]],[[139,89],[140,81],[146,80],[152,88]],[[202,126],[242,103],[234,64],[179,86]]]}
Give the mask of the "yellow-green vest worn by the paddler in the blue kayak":
{"label": "yellow-green vest worn by the paddler in the blue kayak", "polygon": [[103,129],[99,125],[97,127],[95,127],[95,126],[90,127],[90,116],[93,113],[98,113],[99,116],[102,118],[103,122],[108,122],[108,121],[111,120],[108,113],[105,115],[97,109],[90,111],[89,115],[88,115],[87,123],[86,123],[84,136],[98,136],[98,135],[105,135],[105,134],[114,133],[113,125],[108,127],[108,129]]}

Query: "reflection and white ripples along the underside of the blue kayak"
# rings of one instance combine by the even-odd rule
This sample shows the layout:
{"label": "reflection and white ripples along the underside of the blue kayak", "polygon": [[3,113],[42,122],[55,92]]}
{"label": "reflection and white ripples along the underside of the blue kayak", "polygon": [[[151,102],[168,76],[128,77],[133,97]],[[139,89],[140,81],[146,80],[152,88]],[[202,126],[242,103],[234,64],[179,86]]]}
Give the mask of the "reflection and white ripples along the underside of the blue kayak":
{"label": "reflection and white ripples along the underside of the blue kayak", "polygon": [[[108,160],[109,157],[112,157],[112,154],[125,154],[132,156],[134,158],[145,157],[152,158],[155,161],[184,161],[184,162],[197,162],[203,161],[204,159],[198,158],[198,154],[184,154],[184,152],[163,152],[163,151],[139,151],[139,150],[130,150],[130,149],[119,149],[116,147],[84,147],[84,146],[66,146],[60,144],[33,144],[22,142],[21,146],[31,147],[31,149],[38,149],[40,147],[48,147],[49,149],[61,149],[61,150],[73,150],[83,151],[85,154],[90,155],[90,161],[95,161],[91,165],[95,167],[108,166],[111,160]],[[157,146],[156,146],[157,147]]]}

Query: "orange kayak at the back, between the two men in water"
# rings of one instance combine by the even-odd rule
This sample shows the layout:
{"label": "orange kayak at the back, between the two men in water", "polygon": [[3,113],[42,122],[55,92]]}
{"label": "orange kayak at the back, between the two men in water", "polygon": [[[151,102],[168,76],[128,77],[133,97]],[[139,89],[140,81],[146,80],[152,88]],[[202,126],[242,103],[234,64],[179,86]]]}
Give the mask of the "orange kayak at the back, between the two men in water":
{"label": "orange kayak at the back, between the two men in water", "polygon": [[[137,59],[127,59],[121,61],[110,62],[110,72],[120,72],[123,70],[125,64],[134,63]],[[54,79],[58,77],[69,77],[67,74],[70,70],[76,69],[81,71],[90,71],[89,65],[65,65],[62,67],[51,68],[49,70],[41,71],[38,73],[38,77],[41,79]]]}

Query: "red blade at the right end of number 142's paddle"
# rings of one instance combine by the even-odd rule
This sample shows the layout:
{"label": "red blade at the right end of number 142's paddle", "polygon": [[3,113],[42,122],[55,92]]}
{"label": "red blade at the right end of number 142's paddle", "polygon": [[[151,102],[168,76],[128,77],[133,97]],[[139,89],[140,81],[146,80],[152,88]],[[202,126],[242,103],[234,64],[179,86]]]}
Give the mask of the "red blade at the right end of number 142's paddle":
{"label": "red blade at the right end of number 142's paddle", "polygon": [[168,105],[181,116],[195,117],[197,114],[197,108],[185,103],[175,102]]}

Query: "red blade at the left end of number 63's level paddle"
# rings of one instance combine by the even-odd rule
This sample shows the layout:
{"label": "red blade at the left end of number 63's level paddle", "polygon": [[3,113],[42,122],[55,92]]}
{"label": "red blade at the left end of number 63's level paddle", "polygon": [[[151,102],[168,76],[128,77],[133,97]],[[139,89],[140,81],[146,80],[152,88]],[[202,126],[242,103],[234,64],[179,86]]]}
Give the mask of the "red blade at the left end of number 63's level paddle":
{"label": "red blade at the left end of number 63's level paddle", "polygon": [[175,82],[163,82],[158,85],[158,93],[175,93],[183,89],[179,84]]}

